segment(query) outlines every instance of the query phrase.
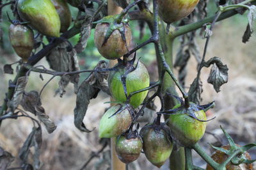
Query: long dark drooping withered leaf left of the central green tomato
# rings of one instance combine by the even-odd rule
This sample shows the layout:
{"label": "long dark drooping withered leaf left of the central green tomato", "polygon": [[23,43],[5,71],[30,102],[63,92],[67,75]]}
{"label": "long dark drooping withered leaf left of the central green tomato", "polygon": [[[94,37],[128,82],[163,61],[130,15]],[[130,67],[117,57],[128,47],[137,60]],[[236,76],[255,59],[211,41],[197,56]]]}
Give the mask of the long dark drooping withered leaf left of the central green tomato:
{"label": "long dark drooping withered leaf left of the central green tomato", "polygon": [[[108,68],[106,61],[100,61],[94,69]],[[83,123],[88,105],[92,98],[97,97],[100,89],[109,93],[107,83],[108,73],[106,72],[92,72],[87,79],[85,79],[78,88],[76,108],[74,109],[74,124],[82,132],[92,132],[88,130]]]}

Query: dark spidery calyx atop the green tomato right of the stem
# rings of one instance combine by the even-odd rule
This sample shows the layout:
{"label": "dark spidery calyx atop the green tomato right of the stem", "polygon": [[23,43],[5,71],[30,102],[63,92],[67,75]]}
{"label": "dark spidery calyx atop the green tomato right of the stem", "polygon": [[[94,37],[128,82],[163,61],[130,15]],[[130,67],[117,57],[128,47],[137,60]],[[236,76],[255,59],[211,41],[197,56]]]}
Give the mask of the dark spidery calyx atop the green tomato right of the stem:
{"label": "dark spidery calyx atop the green tomato right of the stem", "polygon": [[[170,95],[170,94],[168,94]],[[173,95],[172,95],[173,96]],[[175,96],[173,96],[175,97]],[[189,107],[186,107],[186,103],[179,97],[175,97],[180,101],[180,107],[177,107],[175,109],[169,109],[169,110],[164,110],[164,111],[159,111],[157,112],[157,114],[188,114],[188,116],[190,116],[191,118],[194,118],[195,120],[198,121],[210,121],[213,120],[214,118],[211,118],[210,120],[200,120],[198,118],[196,118],[195,112],[197,111],[202,111],[204,110],[204,112],[208,111],[209,109],[211,109],[212,107],[215,106],[215,101],[206,104],[206,105],[197,105],[193,102],[189,102]]]}

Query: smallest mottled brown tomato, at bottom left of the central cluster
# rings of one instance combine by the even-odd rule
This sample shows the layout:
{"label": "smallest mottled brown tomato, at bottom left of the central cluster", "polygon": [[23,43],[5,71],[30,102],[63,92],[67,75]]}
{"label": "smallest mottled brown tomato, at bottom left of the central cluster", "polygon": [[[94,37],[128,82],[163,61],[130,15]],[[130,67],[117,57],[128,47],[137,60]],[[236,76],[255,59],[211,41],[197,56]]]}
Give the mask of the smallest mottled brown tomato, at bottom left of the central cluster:
{"label": "smallest mottled brown tomato, at bottom left of the central cluster", "polygon": [[133,162],[140,156],[142,146],[140,136],[126,139],[124,135],[120,135],[116,139],[116,153],[118,158],[125,164]]}

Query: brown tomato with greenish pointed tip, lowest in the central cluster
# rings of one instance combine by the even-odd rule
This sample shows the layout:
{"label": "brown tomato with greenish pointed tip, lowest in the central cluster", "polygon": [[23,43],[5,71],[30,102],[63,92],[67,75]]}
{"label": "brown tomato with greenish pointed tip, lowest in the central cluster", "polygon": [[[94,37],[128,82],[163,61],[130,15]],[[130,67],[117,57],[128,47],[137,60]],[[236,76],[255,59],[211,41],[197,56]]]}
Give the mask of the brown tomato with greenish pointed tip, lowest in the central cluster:
{"label": "brown tomato with greenish pointed tip, lowest in the central cluster", "polygon": [[173,144],[165,130],[144,128],[141,132],[143,151],[154,166],[161,167],[172,153]]}

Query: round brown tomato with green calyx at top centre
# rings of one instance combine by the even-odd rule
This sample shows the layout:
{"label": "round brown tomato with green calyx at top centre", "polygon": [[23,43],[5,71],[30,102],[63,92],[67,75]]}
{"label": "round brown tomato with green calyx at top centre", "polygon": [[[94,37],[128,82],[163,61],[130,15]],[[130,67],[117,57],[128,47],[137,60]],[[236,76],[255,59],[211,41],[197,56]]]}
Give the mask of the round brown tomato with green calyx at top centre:
{"label": "round brown tomato with green calyx at top centre", "polygon": [[118,59],[128,52],[132,33],[127,23],[115,23],[113,16],[102,19],[95,28],[94,42],[106,59]]}

